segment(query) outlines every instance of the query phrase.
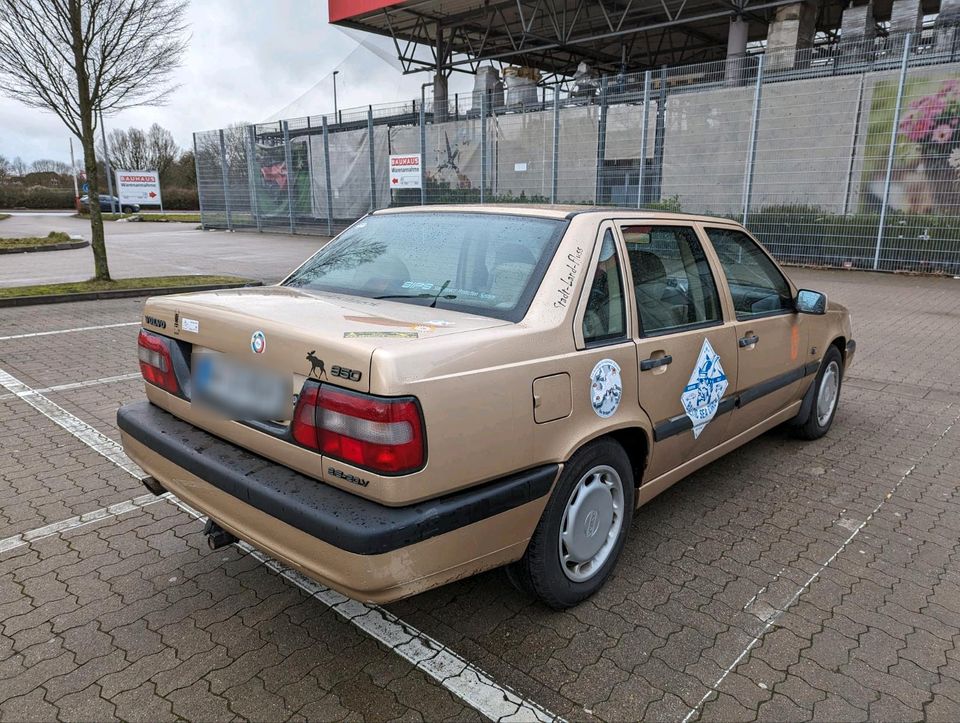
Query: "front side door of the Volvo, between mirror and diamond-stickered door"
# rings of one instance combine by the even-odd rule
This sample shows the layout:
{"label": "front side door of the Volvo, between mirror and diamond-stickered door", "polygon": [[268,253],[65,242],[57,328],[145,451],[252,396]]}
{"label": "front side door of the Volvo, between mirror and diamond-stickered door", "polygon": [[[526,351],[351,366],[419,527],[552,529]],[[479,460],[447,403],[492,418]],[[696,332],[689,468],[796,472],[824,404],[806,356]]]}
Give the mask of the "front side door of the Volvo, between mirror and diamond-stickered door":
{"label": "front side door of the Volvo, between mirror and diamond-stickered door", "polygon": [[739,375],[733,434],[767,420],[800,397],[807,329],[795,292],[766,251],[743,231],[704,225],[736,315]]}

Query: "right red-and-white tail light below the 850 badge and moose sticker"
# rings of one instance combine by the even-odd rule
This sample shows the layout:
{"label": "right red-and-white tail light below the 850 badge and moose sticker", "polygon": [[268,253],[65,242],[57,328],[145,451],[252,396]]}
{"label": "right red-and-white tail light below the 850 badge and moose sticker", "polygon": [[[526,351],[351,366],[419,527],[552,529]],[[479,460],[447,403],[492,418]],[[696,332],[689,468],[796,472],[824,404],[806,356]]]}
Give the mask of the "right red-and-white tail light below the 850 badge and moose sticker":
{"label": "right red-and-white tail light below the 850 badge and moose sticker", "polygon": [[413,472],[426,457],[420,406],[412,397],[308,385],[297,400],[292,428],[303,446],[381,474]]}

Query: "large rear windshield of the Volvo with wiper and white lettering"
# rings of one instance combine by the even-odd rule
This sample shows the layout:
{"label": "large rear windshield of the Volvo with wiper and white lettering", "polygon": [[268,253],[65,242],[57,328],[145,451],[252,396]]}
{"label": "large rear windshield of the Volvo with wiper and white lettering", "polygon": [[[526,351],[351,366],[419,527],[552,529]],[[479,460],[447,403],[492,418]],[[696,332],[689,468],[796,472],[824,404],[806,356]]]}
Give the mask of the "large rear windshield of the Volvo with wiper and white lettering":
{"label": "large rear windshield of the Volvo with wiper and white lettering", "polygon": [[519,321],[566,225],[489,213],[367,216],[283,285]]}

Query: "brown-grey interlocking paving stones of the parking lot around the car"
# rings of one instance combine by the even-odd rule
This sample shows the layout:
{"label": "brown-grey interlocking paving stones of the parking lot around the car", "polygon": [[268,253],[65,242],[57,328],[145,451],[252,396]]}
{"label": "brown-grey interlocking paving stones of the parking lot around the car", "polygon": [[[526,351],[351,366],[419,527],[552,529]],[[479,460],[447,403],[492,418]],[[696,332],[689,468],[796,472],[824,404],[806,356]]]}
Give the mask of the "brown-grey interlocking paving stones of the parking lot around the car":
{"label": "brown-grey interlocking paving stones of the parking lot around the car", "polygon": [[[853,312],[827,437],[775,430],[658,497],[570,611],[499,571],[388,610],[571,720],[960,719],[960,281],[792,273]],[[139,304],[2,309],[0,337]],[[34,388],[132,374],[135,334],[0,341],[0,369]],[[117,438],[112,412],[142,387],[45,396]],[[0,540],[142,493],[0,390]],[[158,502],[0,552],[0,720],[479,717],[200,530]]]}

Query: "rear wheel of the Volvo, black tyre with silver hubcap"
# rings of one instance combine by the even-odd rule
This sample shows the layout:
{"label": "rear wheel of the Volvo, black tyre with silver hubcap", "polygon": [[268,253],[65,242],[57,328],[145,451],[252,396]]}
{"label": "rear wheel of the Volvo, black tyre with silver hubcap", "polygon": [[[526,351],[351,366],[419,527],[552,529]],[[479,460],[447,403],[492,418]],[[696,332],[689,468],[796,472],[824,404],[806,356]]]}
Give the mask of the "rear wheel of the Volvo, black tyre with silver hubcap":
{"label": "rear wheel of the Volvo, black tyre with silver hubcap", "polygon": [[616,565],[633,504],[633,469],[623,447],[612,439],[591,442],[564,466],[526,553],[507,568],[507,578],[555,610],[585,600]]}

